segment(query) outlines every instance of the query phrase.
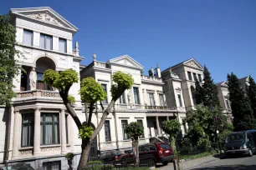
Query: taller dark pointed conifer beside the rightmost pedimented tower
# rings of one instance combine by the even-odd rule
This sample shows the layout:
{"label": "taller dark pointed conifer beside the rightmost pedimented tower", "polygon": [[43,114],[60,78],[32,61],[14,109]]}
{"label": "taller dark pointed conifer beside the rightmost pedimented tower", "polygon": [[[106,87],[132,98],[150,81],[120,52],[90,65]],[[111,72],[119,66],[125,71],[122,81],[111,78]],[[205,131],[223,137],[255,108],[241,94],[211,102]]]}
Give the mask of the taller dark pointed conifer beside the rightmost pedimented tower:
{"label": "taller dark pointed conifer beside the rightmost pedimented tower", "polygon": [[202,104],[209,108],[219,106],[218,101],[218,88],[213,82],[211,73],[208,71],[207,67],[204,66],[203,69],[203,97]]}

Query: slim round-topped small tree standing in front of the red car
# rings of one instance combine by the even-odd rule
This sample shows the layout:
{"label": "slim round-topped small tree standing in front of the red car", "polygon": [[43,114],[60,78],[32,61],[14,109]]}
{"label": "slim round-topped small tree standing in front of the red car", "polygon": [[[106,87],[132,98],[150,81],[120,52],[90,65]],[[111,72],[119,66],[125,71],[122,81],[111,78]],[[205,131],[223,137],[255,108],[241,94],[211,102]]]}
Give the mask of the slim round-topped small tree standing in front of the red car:
{"label": "slim round-topped small tree standing in front of the red car", "polygon": [[143,126],[139,122],[131,122],[127,127],[125,128],[125,133],[131,137],[132,140],[132,148],[134,151],[134,154],[136,156],[136,166],[139,166],[140,164],[140,158],[139,158],[139,137],[143,134]]}

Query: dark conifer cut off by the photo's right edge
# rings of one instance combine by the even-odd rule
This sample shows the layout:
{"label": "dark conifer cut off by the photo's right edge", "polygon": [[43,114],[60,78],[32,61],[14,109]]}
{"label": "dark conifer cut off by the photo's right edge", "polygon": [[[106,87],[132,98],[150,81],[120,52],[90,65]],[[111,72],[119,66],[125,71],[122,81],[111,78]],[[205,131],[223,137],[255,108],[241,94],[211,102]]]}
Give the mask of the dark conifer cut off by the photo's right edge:
{"label": "dark conifer cut off by the photo's right edge", "polygon": [[253,109],[253,115],[256,118],[256,83],[253,80],[253,77],[249,76],[249,85],[247,88],[247,95],[251,102],[251,107]]}

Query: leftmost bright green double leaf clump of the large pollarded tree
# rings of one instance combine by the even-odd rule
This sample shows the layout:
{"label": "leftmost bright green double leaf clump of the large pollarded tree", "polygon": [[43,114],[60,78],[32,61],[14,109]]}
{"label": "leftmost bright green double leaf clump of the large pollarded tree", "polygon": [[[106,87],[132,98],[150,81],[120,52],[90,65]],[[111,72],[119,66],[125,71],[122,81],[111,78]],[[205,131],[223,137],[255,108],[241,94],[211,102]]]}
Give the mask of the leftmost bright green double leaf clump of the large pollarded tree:
{"label": "leftmost bright green double leaf clump of the large pollarded tree", "polygon": [[78,73],[73,69],[67,69],[62,72],[48,69],[44,72],[44,82],[49,86],[58,88],[59,91],[71,87],[72,84],[78,82],[78,80]]}

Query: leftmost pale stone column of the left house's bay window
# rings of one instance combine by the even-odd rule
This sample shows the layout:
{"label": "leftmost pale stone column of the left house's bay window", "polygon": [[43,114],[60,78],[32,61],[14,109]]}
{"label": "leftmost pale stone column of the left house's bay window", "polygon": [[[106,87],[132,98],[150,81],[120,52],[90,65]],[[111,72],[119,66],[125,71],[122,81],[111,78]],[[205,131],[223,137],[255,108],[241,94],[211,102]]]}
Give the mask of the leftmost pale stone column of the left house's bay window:
{"label": "leftmost pale stone column of the left house's bay window", "polygon": [[18,148],[20,146],[21,135],[21,114],[19,111],[14,112],[14,129],[13,129],[13,158],[17,158],[19,155]]}

